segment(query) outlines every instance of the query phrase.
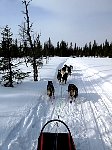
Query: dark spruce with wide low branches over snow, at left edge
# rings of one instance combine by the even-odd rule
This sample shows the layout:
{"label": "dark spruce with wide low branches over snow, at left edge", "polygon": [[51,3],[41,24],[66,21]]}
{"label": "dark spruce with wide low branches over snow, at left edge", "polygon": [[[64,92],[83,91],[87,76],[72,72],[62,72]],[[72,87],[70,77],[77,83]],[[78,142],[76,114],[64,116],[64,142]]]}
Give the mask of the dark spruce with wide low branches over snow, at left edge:
{"label": "dark spruce with wide low branches over snow, at left edge", "polygon": [[15,81],[20,81],[28,76],[27,73],[23,73],[20,69],[17,69],[17,64],[13,64],[12,53],[12,33],[11,29],[6,25],[2,33],[2,51],[3,57],[0,59],[0,72],[2,73],[1,83],[6,87],[13,87]]}

